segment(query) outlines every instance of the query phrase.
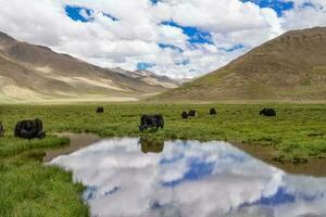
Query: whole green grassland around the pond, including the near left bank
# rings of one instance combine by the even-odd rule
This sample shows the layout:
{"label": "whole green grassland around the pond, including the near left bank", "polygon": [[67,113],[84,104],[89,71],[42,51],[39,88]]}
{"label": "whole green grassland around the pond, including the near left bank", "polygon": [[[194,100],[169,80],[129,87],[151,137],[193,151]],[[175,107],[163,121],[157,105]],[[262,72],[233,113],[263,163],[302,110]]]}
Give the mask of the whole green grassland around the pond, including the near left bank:
{"label": "whole green grassland around the pond, including the near left bank", "polygon": [[[83,186],[55,167],[43,166],[45,149],[68,143],[54,132],[93,132],[101,137],[225,140],[273,146],[275,159],[304,162],[326,158],[325,104],[99,104],[0,105],[7,133],[0,138],[0,216],[88,216],[80,199]],[[216,107],[217,116],[209,110]],[[262,107],[274,107],[278,116],[259,116]],[[181,119],[183,111],[195,108],[199,116]],[[141,114],[162,113],[164,130],[138,131]],[[13,137],[13,127],[25,118],[43,120],[48,137],[25,141]]]}

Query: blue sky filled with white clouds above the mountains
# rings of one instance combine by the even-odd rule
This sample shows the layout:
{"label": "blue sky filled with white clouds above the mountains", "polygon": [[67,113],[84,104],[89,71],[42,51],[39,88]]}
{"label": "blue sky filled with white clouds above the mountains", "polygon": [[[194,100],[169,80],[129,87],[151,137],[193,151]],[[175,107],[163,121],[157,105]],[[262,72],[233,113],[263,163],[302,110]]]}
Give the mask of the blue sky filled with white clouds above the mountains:
{"label": "blue sky filled with white clouds above the mountains", "polygon": [[175,78],[214,71],[298,28],[326,0],[0,0],[0,30],[103,67]]}

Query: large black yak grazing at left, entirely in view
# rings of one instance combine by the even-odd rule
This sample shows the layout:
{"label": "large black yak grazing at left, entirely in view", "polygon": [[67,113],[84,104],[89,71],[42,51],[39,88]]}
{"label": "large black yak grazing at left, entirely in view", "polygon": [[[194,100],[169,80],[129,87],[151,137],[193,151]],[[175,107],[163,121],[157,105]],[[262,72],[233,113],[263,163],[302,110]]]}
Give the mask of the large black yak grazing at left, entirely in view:
{"label": "large black yak grazing at left, entirely in view", "polygon": [[40,119],[27,119],[18,122],[14,129],[14,136],[23,139],[43,139],[43,124]]}

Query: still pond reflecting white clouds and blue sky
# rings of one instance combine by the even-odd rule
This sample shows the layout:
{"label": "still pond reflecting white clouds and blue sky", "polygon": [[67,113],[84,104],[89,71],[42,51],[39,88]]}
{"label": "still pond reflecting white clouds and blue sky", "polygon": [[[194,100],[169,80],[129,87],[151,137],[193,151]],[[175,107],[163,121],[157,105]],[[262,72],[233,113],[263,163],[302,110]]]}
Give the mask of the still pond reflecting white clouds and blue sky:
{"label": "still pond reflecting white clouds and blue sky", "polygon": [[288,175],[225,142],[108,139],[50,164],[87,187],[93,216],[326,216],[326,178]]}

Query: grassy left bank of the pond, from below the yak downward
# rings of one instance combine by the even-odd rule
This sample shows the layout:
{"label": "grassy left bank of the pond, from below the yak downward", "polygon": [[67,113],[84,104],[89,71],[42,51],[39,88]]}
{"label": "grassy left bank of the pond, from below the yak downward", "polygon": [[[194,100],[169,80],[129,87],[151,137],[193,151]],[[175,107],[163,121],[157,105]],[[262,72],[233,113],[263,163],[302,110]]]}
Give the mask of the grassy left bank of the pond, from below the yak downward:
{"label": "grassy left bank of the pond, from below the yak downward", "polygon": [[45,149],[68,143],[50,136],[25,141],[0,138],[0,216],[88,216],[80,199],[84,187],[72,175],[42,163]]}

